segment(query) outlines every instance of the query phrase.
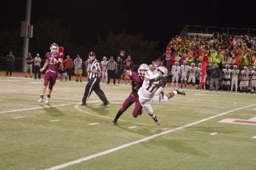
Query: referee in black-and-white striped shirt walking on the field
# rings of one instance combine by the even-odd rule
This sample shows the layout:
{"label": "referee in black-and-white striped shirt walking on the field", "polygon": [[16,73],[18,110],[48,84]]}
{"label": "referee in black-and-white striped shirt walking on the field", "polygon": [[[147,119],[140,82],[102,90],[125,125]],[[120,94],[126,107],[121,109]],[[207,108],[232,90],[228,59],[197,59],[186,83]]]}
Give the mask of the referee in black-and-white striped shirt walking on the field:
{"label": "referee in black-and-white striped shirt walking on the field", "polygon": [[89,65],[87,66],[87,73],[88,73],[88,83],[85,87],[84,97],[82,100],[82,106],[87,105],[87,100],[90,97],[90,94],[95,91],[95,93],[100,97],[100,100],[103,101],[103,104],[100,106],[107,106],[109,105],[109,101],[106,99],[106,96],[103,90],[100,88],[100,77],[101,77],[101,70],[100,70],[100,63],[96,60],[96,54],[94,51],[90,51],[89,55]]}

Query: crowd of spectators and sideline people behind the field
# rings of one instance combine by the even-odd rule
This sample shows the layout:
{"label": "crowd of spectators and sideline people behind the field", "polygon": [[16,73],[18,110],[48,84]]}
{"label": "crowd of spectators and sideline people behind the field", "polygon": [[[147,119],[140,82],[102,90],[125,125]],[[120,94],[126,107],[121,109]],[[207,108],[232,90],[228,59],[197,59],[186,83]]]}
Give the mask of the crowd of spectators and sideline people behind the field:
{"label": "crowd of spectators and sideline people behind the field", "polygon": [[[256,66],[256,45],[255,39],[248,36],[219,36],[208,39],[199,36],[189,38],[176,36],[171,39],[163,55],[152,61],[150,69],[154,71],[157,66],[166,66],[169,71],[171,87],[186,88],[187,85],[189,87],[189,84],[192,84],[192,88],[197,88],[201,83],[201,63],[204,57],[208,58],[207,70],[204,74],[204,80],[202,80],[204,81],[204,89],[225,89],[229,91],[232,91],[232,89],[235,91],[252,91],[251,89],[254,89],[253,83],[256,79],[254,73],[256,70],[253,66]],[[116,58],[104,56],[102,58],[97,57],[97,59],[100,61],[102,68],[102,82],[106,82],[106,84],[109,84],[110,79],[112,79],[114,85],[116,79],[120,83],[122,75],[128,70],[136,71],[136,65],[131,60],[131,56],[125,56],[124,51]],[[32,77],[33,70],[34,78],[40,79],[42,61],[40,54],[32,57],[29,53],[26,61],[25,76],[27,77],[27,73],[30,71],[30,77]],[[14,62],[15,57],[10,51],[10,54],[6,57],[6,76],[8,74],[11,76]],[[79,54],[76,55],[74,60],[71,59],[70,55],[67,55],[63,63],[64,67],[59,70],[59,78],[71,81],[71,76],[74,75],[76,82],[82,82],[82,75],[87,76],[88,62],[89,60],[83,60]],[[234,78],[234,76],[237,78]],[[237,81],[234,81],[234,79],[237,79]],[[246,82],[243,85],[241,83],[243,81],[248,81],[248,83]],[[123,79],[122,82],[123,84],[130,84],[128,79]]]}

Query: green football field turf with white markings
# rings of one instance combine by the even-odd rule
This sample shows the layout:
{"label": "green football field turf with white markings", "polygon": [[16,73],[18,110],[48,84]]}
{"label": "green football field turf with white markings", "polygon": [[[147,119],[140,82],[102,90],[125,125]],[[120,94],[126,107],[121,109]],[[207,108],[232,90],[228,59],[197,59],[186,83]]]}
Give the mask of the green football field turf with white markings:
{"label": "green football field turf with white markings", "polygon": [[42,83],[0,77],[1,170],[256,169],[255,94],[187,90],[152,103],[160,126],[133,107],[113,126],[131,86],[101,84],[110,105],[93,93],[82,107],[85,82],[57,82],[49,105]]}

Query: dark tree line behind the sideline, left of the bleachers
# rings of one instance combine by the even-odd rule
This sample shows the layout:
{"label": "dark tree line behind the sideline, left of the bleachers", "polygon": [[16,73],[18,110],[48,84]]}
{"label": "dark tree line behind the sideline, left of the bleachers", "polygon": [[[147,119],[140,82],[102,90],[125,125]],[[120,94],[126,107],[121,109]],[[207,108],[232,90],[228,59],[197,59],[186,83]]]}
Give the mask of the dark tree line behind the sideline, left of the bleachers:
{"label": "dark tree line behind the sideline, left of the bleachers", "polygon": [[[6,56],[8,51],[13,51],[16,57],[22,57],[23,39],[20,37],[20,26],[2,29],[0,31],[0,56]],[[41,56],[49,51],[52,42],[65,48],[65,54],[80,54],[84,59],[88,51],[94,50],[101,60],[103,56],[118,56],[121,50],[131,55],[134,63],[150,63],[157,57],[158,42],[143,39],[140,35],[131,35],[125,31],[109,32],[106,39],[97,37],[96,43],[78,43],[72,37],[72,32],[62,26],[62,20],[37,20],[34,24],[33,39],[30,39],[30,49],[34,55]]]}

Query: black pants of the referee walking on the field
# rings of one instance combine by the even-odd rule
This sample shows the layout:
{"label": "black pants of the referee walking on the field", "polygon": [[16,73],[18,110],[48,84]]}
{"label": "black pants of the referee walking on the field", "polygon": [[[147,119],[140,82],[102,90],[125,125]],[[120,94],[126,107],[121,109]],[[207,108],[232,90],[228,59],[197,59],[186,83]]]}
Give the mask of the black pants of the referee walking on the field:
{"label": "black pants of the referee walking on the field", "polygon": [[90,79],[85,87],[84,97],[83,97],[83,104],[86,104],[90,94],[95,91],[95,93],[100,97],[100,100],[103,101],[103,104],[108,103],[109,101],[106,99],[106,96],[103,90],[100,88],[100,78],[93,78]]}

